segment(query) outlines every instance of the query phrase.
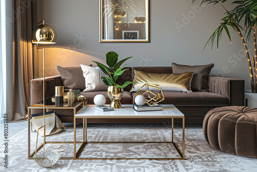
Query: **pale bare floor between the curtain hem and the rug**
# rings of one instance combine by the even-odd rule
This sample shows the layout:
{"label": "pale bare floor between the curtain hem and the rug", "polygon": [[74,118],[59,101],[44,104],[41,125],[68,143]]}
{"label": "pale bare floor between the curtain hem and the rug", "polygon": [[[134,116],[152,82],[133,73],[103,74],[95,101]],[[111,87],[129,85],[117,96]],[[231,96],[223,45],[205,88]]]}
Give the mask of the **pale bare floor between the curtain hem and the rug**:
{"label": "pale bare floor between the curtain hem and the rug", "polygon": [[[8,140],[28,127],[28,121],[8,123]],[[4,120],[0,119],[0,143],[4,142]]]}

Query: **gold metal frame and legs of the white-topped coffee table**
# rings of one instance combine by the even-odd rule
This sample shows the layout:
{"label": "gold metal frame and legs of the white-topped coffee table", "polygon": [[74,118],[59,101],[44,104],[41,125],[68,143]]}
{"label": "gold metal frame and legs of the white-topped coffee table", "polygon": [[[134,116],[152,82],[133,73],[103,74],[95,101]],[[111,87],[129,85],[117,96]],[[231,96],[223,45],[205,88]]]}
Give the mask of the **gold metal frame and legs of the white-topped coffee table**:
{"label": "gold metal frame and legs of the white-topped coffee table", "polygon": [[[82,118],[83,119],[83,142],[76,142],[76,119]],[[171,142],[87,142],[87,118],[171,118],[172,121],[172,141]],[[182,151],[177,147],[176,143],[174,143],[174,118],[181,118],[182,119]],[[79,147],[78,151],[76,151],[77,143],[82,143]],[[83,149],[87,144],[95,144],[95,143],[168,143],[173,144],[176,148],[177,152],[179,153],[181,158],[79,158],[80,154],[82,153]],[[185,160],[185,116],[167,116],[167,117],[158,117],[158,116],[145,116],[145,117],[133,117],[133,116],[126,116],[126,117],[118,117],[118,116],[74,116],[74,160]]]}

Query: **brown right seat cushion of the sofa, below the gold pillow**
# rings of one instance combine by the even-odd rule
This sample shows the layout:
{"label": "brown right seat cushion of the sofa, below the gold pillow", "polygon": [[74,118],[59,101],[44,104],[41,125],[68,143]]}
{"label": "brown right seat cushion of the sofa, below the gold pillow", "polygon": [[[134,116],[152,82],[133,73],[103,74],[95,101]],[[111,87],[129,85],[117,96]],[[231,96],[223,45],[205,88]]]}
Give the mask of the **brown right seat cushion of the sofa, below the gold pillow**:
{"label": "brown right seat cushion of the sofa, below the gold pillow", "polygon": [[[160,104],[172,104],[175,106],[229,106],[229,99],[225,96],[210,92],[173,92],[163,91],[164,100]],[[133,102],[135,98],[133,93]]]}

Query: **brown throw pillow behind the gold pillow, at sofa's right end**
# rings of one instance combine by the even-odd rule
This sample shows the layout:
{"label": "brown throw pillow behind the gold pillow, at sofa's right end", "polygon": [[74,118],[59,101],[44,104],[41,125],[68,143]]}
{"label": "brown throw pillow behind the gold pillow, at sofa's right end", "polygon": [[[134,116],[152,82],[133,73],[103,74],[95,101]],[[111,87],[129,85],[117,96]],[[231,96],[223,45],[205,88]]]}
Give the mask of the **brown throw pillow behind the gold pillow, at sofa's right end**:
{"label": "brown throw pillow behind the gold pillow, at sofa's right end", "polygon": [[211,72],[213,63],[206,65],[188,66],[176,63],[171,63],[172,71],[174,74],[194,72],[194,76],[191,82],[192,91],[206,91],[209,74]]}

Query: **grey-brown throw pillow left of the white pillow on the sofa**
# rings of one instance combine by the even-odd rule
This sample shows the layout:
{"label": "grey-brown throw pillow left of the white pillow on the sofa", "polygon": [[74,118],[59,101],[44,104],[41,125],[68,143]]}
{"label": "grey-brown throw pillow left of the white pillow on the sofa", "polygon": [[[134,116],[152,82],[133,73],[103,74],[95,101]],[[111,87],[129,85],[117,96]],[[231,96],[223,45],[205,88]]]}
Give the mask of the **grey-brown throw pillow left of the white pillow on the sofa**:
{"label": "grey-brown throw pillow left of the white pillow on the sofa", "polygon": [[[92,66],[89,64],[88,66]],[[83,91],[86,88],[85,78],[81,67],[61,67],[57,66],[64,89],[73,89]]]}

